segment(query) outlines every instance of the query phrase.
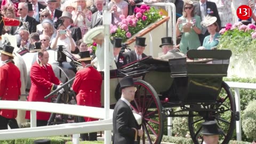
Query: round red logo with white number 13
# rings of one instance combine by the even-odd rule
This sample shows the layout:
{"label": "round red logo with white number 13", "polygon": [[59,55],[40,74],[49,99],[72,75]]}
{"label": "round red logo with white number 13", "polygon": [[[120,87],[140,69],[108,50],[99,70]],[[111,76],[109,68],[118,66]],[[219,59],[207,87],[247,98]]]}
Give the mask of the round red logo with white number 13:
{"label": "round red logo with white number 13", "polygon": [[241,20],[247,20],[252,16],[252,10],[248,5],[241,5],[236,10],[237,17]]}

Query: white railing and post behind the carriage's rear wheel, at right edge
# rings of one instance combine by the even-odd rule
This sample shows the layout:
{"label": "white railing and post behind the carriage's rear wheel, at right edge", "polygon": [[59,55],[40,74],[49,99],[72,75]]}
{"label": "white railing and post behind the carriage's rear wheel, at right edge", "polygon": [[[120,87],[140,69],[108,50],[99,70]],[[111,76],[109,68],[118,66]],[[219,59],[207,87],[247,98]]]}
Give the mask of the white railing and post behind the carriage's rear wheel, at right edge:
{"label": "white railing and post behind the carriage's rear wheel, at right edge", "polygon": [[226,82],[229,87],[235,91],[235,102],[236,102],[236,111],[239,111],[239,121],[236,121],[236,140],[242,140],[242,128],[241,128],[241,102],[240,102],[240,93],[239,89],[251,89],[256,90],[256,84],[253,83],[239,83],[239,82]]}

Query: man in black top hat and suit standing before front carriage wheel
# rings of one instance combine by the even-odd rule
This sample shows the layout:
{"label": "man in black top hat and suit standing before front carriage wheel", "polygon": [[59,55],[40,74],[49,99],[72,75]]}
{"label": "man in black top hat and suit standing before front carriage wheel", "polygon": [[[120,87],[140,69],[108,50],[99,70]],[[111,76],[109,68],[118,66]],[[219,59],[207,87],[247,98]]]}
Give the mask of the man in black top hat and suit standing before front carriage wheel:
{"label": "man in black top hat and suit standing before front carriage wheel", "polygon": [[[113,143],[130,144],[134,143],[135,136],[143,135],[143,130],[140,129],[130,107],[130,102],[134,100],[137,91],[132,77],[124,77],[120,81],[120,91],[122,91],[122,95],[117,101],[113,113]],[[137,140],[140,141],[140,138]]]}

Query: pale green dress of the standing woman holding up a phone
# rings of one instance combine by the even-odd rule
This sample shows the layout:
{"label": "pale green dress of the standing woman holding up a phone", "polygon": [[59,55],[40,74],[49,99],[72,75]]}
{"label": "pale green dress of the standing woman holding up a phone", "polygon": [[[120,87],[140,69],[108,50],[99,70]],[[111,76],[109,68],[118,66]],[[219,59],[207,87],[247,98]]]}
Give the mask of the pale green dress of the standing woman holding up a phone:
{"label": "pale green dress of the standing woman holding up a phone", "polygon": [[[183,16],[180,17],[181,20],[188,20],[184,18]],[[199,29],[202,29],[201,27],[201,18],[198,15],[195,15],[195,17],[192,18],[192,20],[195,22],[195,26]],[[186,23],[182,23],[179,25],[179,29],[182,33],[182,27],[186,25]],[[196,50],[199,46],[201,46],[201,43],[199,41],[199,37],[196,34],[195,30],[191,28],[190,32],[182,33],[181,35],[181,41],[180,41],[180,51],[184,54],[187,53],[188,50]]]}

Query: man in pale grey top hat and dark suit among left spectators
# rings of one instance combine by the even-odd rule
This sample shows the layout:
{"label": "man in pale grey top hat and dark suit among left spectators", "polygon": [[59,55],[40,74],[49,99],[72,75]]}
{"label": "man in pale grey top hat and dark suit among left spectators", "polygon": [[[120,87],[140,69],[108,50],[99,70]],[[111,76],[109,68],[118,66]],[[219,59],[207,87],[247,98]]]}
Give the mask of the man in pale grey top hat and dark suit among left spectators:
{"label": "man in pale grey top hat and dark suit among left spectators", "polygon": [[63,25],[71,31],[71,36],[75,42],[82,39],[81,29],[79,27],[71,26],[71,24],[74,23],[71,13],[64,11],[59,19],[63,20]]}

